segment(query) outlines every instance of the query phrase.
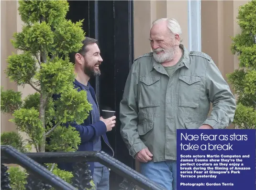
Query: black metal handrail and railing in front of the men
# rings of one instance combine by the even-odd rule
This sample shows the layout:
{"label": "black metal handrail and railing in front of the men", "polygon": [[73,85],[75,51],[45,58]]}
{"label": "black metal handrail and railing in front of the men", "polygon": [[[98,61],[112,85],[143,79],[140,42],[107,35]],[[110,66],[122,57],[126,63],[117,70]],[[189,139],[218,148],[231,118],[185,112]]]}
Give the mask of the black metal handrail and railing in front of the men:
{"label": "black metal handrail and railing in front of the men", "polygon": [[[31,162],[31,163],[33,163],[33,167],[36,170],[33,170],[32,165],[29,164],[30,160],[24,160],[24,158],[29,158],[30,160],[32,160],[33,162]],[[79,179],[73,180],[72,185],[75,186],[76,188],[78,188],[78,190],[84,190],[86,188],[86,186],[88,185],[88,181],[91,179],[89,177],[89,172],[86,171],[86,170],[88,170],[88,165],[86,164],[86,162],[88,162],[88,161],[100,162],[101,164],[110,168],[113,172],[122,176],[124,178],[124,180],[119,185],[120,190],[134,190],[136,185],[138,187],[143,188],[144,190],[163,190],[162,187],[160,187],[156,183],[150,181],[148,178],[146,178],[139,172],[131,169],[130,167],[126,166],[119,160],[112,158],[111,156],[109,156],[108,154],[106,154],[105,152],[102,152],[102,151],[42,152],[42,153],[41,152],[40,153],[30,152],[30,153],[23,154],[23,153],[18,152],[17,150],[15,150],[14,148],[12,148],[10,146],[1,146],[1,163],[19,164],[22,167],[24,167],[25,169],[30,170],[30,172],[32,172],[33,174],[40,173],[40,175],[42,175],[42,173],[44,173],[45,176],[39,176],[40,179],[42,181],[44,181],[45,183],[52,185],[56,189],[59,188],[59,186],[57,186],[59,183],[57,183],[57,182],[62,182],[63,180],[61,180],[55,176],[55,178],[53,178],[50,181],[49,175],[53,176],[53,174],[51,174],[47,169],[45,169],[40,164],[70,162],[70,161],[73,163],[77,163],[76,167],[74,167],[74,172],[78,172],[77,170],[80,169],[79,170],[80,173],[77,173],[76,176],[84,175],[83,177],[80,176],[79,179],[88,179],[88,180],[84,180],[83,182],[79,181]],[[26,164],[24,164],[24,163],[26,163]],[[40,167],[40,170],[38,169],[39,167]],[[81,170],[81,168],[83,168],[83,170]],[[42,169],[42,172],[41,172],[41,169]],[[47,173],[45,172],[45,170],[47,171]],[[1,179],[1,181],[2,181],[2,179]],[[81,185],[81,183],[84,183],[84,184]],[[67,183],[65,182],[65,184],[67,184]],[[67,190],[67,189],[62,188],[62,190]]]}

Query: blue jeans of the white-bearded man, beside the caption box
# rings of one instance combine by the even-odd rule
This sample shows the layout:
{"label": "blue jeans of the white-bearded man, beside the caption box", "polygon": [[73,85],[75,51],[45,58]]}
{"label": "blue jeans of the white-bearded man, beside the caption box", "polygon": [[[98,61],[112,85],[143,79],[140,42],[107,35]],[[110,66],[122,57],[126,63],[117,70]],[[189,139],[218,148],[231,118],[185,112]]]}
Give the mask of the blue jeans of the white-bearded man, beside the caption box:
{"label": "blue jeans of the white-bearded man, beside the caption box", "polygon": [[177,190],[177,161],[140,162],[141,174],[165,188]]}

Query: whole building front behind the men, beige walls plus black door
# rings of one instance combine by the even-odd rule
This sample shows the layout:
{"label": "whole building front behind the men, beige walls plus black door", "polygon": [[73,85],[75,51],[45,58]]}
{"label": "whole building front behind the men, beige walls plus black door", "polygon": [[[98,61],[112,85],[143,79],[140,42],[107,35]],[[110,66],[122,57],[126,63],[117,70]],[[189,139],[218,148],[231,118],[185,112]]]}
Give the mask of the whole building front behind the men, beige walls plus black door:
{"label": "whole building front behind the men, beige walls plus black door", "polygon": [[[87,36],[99,39],[103,51],[103,76],[92,83],[101,102],[114,97],[111,102],[114,105],[113,109],[118,113],[122,90],[132,60],[151,51],[148,37],[153,20],[177,19],[183,31],[185,47],[188,50],[209,54],[226,80],[226,74],[238,67],[237,57],[232,55],[230,50],[232,43],[230,36],[240,32],[236,17],[238,7],[246,2],[244,0],[69,1],[72,14],[68,13],[67,17],[73,21],[87,20],[85,21]],[[17,53],[10,39],[14,32],[22,30],[22,20],[17,11],[18,2],[1,0],[0,6],[1,86],[5,90],[21,91],[22,96],[26,97],[34,93],[33,88],[29,85],[25,85],[24,88],[17,86],[4,73],[7,68],[7,57],[12,52]],[[90,18],[87,18],[88,16]],[[90,22],[93,24],[89,24]],[[87,26],[93,26],[93,29],[87,29]],[[111,50],[109,46],[114,47],[112,54],[108,53]],[[104,60],[108,65],[104,64]],[[113,86],[114,94],[107,94],[106,89],[100,87],[100,83],[103,84],[104,81],[107,81],[106,85]],[[16,131],[9,119],[11,119],[10,115],[1,113],[1,131]],[[116,148],[115,158],[138,169],[138,164],[134,164],[133,159],[127,160],[128,150],[123,147],[124,144],[117,143],[121,141],[118,124],[120,123],[117,123],[116,130],[110,135],[111,139],[115,139],[111,140],[111,144]]]}

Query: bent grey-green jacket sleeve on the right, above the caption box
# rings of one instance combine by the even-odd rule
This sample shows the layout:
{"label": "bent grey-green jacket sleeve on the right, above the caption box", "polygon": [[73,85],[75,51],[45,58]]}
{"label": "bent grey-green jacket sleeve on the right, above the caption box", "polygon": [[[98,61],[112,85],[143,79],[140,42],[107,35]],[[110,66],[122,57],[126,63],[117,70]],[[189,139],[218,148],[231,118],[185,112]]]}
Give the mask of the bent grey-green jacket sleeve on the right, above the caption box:
{"label": "bent grey-green jacket sleeve on the right, above the caption box", "polygon": [[205,83],[212,111],[203,124],[208,124],[213,129],[225,129],[234,120],[235,98],[213,60],[208,61]]}

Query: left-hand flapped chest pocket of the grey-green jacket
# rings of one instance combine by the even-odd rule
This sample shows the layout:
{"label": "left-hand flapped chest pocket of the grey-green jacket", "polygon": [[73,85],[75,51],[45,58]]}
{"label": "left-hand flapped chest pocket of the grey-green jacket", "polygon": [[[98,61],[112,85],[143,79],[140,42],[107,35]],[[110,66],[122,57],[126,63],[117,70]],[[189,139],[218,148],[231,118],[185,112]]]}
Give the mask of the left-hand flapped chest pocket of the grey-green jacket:
{"label": "left-hand flapped chest pocket of the grey-green jacket", "polygon": [[159,96],[159,80],[158,76],[142,76],[140,77],[140,100],[139,108],[150,108],[160,106],[157,101]]}

